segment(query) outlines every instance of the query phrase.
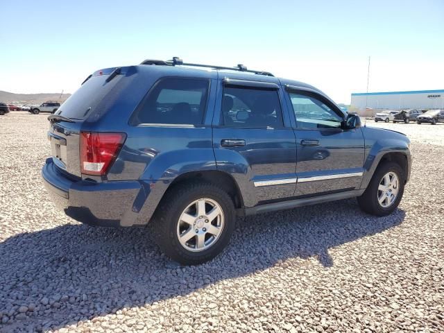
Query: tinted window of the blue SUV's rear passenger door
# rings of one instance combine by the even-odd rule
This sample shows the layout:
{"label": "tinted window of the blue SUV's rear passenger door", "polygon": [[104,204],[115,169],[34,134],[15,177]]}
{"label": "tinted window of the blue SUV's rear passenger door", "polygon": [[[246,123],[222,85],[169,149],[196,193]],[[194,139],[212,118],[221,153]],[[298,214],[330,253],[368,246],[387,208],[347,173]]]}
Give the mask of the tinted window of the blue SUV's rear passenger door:
{"label": "tinted window of the blue SUV's rear passenger door", "polygon": [[224,87],[221,125],[236,128],[282,128],[278,91]]}

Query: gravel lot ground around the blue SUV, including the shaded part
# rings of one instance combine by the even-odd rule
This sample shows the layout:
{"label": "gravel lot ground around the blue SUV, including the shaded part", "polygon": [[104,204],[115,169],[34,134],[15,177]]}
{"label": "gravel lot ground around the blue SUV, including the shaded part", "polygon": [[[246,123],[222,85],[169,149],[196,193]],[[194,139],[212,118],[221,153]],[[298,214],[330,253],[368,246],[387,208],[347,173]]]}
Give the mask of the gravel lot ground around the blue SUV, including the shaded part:
{"label": "gravel lot ground around the blue SUV, including the shaded part", "polygon": [[444,124],[367,121],[412,140],[391,216],[343,200],[239,219],[223,255],[177,267],[146,230],[54,209],[46,117],[0,117],[0,332],[444,332]]}

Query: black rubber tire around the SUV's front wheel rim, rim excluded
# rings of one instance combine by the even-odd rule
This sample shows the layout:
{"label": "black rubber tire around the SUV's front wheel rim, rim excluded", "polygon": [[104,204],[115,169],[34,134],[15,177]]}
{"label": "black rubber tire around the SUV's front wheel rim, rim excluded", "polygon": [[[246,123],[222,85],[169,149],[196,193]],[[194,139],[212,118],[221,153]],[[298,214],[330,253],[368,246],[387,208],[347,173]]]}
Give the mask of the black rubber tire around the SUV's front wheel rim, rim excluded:
{"label": "black rubber tire around the SUV's front wheel rim, rim excluded", "polygon": [[[386,175],[386,173],[388,172],[396,173],[396,175],[398,176],[399,191],[398,196],[395,198],[395,201],[389,207],[382,207],[382,205],[380,205],[379,201],[377,200],[378,187],[379,182],[381,182],[384,175]],[[391,214],[400,204],[402,194],[404,194],[404,182],[405,173],[399,164],[395,162],[383,162],[377,167],[372,179],[370,180],[370,183],[368,184],[366,191],[364,191],[364,194],[357,198],[359,207],[364,212],[376,216],[386,216],[388,214]]]}

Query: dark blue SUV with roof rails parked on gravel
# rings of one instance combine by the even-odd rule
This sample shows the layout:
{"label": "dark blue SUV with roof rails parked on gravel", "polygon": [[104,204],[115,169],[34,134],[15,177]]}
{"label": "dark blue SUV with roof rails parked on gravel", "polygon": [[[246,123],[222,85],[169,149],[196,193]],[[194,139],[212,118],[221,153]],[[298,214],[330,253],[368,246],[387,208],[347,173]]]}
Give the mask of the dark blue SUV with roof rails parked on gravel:
{"label": "dark blue SUV with roof rails parked on gravel", "polygon": [[390,214],[410,176],[405,135],[243,65],[101,69],[49,120],[53,202],[90,225],[148,226],[182,264],[221,253],[236,216],[354,197]]}

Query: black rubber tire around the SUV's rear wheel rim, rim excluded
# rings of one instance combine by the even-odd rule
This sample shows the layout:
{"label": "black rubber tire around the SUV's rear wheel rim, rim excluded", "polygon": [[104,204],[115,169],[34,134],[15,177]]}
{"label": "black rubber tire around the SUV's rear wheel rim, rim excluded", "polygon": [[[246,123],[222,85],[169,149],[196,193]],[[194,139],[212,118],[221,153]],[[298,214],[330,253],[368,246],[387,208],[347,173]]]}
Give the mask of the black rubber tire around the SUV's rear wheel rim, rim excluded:
{"label": "black rubber tire around the SUV's rear wheel rim, rim excluded", "polygon": [[[178,239],[178,223],[182,212],[200,198],[216,201],[223,211],[223,229],[219,238],[206,250],[187,250]],[[208,182],[187,182],[170,189],[162,198],[152,221],[153,234],[162,253],[183,265],[196,265],[207,262],[228,245],[234,231],[235,210],[232,198],[215,185]],[[194,227],[193,227],[194,228]]]}

